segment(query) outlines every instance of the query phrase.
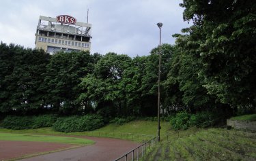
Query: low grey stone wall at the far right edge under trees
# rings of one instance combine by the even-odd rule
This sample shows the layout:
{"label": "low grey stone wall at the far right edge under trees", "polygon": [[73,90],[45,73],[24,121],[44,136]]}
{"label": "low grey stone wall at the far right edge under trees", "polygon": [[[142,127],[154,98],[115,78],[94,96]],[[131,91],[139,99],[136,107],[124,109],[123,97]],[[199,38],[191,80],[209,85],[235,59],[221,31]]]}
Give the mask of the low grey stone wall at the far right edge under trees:
{"label": "low grey stone wall at the far right edge under trees", "polygon": [[232,126],[236,129],[246,129],[251,131],[256,131],[256,122],[249,121],[238,121],[238,120],[229,120],[227,119],[227,126]]}

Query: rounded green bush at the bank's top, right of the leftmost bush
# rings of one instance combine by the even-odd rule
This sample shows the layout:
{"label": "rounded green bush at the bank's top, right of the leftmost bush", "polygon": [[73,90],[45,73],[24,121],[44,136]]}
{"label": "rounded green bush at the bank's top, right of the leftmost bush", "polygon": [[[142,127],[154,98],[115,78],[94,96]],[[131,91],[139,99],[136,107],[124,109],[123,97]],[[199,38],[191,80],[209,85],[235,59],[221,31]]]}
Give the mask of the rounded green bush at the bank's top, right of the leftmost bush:
{"label": "rounded green bush at the bank's top, right of the leftmost bush", "polygon": [[83,115],[58,118],[53,129],[61,132],[89,131],[100,128],[104,125],[104,120],[100,115]]}

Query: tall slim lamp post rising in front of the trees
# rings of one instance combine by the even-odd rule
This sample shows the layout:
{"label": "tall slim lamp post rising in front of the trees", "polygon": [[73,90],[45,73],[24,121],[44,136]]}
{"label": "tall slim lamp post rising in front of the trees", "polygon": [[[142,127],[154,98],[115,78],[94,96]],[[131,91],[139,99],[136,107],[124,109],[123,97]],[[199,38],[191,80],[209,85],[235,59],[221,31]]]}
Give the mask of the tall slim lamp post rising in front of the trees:
{"label": "tall slim lamp post rising in front of the trees", "polygon": [[162,29],[162,23],[158,22],[157,26],[159,28],[159,64],[158,64],[158,141],[160,141],[160,76],[161,76],[161,29]]}

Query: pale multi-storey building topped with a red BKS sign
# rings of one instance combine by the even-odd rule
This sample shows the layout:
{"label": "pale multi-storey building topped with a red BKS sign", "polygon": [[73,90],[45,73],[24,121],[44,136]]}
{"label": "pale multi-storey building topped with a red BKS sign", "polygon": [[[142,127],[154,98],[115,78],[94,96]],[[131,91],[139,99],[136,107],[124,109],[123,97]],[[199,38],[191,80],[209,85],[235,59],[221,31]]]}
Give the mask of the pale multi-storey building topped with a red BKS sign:
{"label": "pale multi-storey building topped with a red BKS sign", "polygon": [[40,16],[35,33],[35,48],[54,54],[58,51],[90,50],[91,24],[76,22],[72,16]]}

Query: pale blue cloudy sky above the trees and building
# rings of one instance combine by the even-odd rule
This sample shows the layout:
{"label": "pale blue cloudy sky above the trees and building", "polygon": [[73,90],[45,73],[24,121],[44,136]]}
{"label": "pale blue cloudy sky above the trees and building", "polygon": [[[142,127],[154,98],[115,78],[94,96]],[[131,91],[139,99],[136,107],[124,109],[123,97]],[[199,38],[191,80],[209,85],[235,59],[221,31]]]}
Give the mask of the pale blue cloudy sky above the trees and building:
{"label": "pale blue cloudy sky above the trees and building", "polygon": [[91,53],[115,52],[146,56],[162,43],[174,44],[188,22],[182,18],[182,0],[0,0],[0,41],[35,48],[39,16],[70,15],[91,27]]}

